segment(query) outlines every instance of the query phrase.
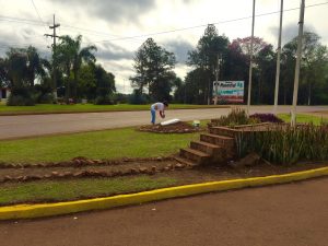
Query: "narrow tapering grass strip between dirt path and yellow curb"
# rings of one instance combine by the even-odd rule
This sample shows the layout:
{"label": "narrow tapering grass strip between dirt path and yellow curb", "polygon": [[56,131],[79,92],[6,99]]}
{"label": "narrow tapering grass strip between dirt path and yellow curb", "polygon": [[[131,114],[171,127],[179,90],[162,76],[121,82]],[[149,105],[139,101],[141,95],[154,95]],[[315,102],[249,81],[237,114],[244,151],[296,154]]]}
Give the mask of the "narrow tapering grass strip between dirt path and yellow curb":
{"label": "narrow tapering grass strip between dirt path and yellow curb", "polygon": [[0,206],[113,196],[174,186],[176,183],[169,177],[139,176],[4,184],[0,186]]}

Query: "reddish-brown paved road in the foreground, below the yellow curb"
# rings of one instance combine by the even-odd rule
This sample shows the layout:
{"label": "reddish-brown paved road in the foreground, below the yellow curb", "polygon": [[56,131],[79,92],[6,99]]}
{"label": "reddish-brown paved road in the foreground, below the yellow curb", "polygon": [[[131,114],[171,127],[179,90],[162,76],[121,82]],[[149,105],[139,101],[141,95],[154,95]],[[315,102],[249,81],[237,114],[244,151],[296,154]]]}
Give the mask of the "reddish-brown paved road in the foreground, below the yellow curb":
{"label": "reddish-brown paved road in the foreground, below the yellow curb", "polygon": [[320,178],[101,212],[0,222],[0,245],[325,246],[327,194],[328,178]]}

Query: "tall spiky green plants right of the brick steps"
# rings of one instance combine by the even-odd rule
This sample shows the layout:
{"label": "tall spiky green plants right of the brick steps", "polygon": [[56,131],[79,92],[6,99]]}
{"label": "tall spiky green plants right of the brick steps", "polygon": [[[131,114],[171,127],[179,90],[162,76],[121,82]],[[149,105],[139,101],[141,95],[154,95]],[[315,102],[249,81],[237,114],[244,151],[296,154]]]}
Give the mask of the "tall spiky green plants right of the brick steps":
{"label": "tall spiky green plants right of the brick steps", "polygon": [[236,137],[238,155],[256,152],[265,160],[277,164],[293,164],[297,161],[328,160],[328,127],[300,125],[296,128],[283,125],[268,131],[245,131]]}

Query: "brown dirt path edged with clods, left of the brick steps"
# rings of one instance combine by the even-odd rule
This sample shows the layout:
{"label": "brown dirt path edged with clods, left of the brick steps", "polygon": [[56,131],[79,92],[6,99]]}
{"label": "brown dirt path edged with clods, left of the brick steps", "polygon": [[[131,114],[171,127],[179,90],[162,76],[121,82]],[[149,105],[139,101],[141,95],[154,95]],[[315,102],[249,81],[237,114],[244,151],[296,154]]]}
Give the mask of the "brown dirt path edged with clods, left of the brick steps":
{"label": "brown dirt path edged with clods, left of the brick steps", "polygon": [[19,166],[7,164],[0,169],[0,183],[154,175],[183,168],[192,168],[192,166],[178,163],[173,157],[136,159],[134,161],[132,159],[99,161],[79,157],[70,162],[52,163],[48,166],[44,164]]}

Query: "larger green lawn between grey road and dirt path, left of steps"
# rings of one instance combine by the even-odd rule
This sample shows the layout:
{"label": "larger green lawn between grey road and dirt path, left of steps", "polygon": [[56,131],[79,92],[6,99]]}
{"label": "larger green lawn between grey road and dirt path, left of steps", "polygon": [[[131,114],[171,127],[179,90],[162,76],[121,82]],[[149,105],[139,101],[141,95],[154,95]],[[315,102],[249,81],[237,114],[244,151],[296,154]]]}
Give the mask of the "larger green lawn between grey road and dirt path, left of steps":
{"label": "larger green lawn between grey road and dirt path, left of steps", "polygon": [[134,128],[0,141],[0,162],[38,163],[90,159],[150,157],[178,152],[199,133],[151,133]]}

